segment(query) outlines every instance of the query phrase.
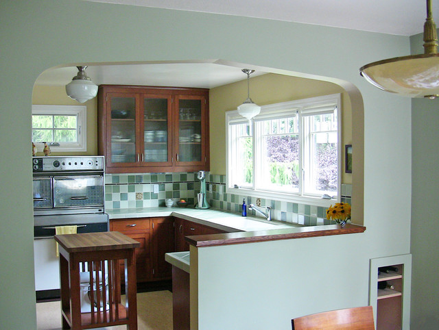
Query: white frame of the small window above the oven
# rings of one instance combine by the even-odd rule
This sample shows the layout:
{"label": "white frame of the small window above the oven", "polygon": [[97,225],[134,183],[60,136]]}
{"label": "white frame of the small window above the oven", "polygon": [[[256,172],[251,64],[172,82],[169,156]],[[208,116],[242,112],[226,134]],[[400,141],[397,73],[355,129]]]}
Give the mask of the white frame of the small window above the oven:
{"label": "white frame of the small window above the oven", "polygon": [[[87,151],[87,125],[85,105],[32,105],[32,115],[48,115],[48,116],[76,116],[77,117],[77,142],[59,142],[59,146],[50,145],[51,151]],[[55,141],[56,142],[56,141]],[[34,142],[38,152],[43,152],[44,144]]]}

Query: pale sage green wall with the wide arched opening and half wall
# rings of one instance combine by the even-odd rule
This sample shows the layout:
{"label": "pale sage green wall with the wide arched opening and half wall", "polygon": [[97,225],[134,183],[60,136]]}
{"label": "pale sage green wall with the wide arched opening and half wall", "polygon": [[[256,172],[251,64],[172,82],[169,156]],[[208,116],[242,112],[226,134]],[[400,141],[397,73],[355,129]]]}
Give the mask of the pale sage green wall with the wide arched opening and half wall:
{"label": "pale sage green wall with the wide arched opening and half wall", "polygon": [[290,329],[299,314],[367,305],[369,259],[409,252],[410,100],[377,90],[358,74],[368,62],[406,55],[407,37],[80,0],[0,1],[0,26],[4,329],[35,329],[32,90],[41,72],[61,64],[219,58],[332,77],[350,93],[354,190],[355,176],[363,177],[364,132],[359,186],[366,232],[200,249],[200,329],[248,329],[249,322]]}

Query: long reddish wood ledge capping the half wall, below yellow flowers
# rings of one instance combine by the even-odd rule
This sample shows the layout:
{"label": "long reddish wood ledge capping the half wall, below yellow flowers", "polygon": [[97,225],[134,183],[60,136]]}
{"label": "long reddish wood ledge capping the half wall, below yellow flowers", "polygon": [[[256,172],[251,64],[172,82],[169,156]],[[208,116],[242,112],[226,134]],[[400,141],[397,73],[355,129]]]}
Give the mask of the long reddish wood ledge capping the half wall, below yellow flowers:
{"label": "long reddish wood ledge capping the half wall, below yellow flowers", "polygon": [[345,235],[348,233],[363,233],[366,227],[346,224],[298,227],[291,229],[272,229],[264,231],[247,231],[237,233],[218,233],[214,235],[187,236],[185,240],[193,246],[218,246],[229,244],[243,244],[266,242],[270,240],[292,240],[295,238],[310,238],[320,236]]}

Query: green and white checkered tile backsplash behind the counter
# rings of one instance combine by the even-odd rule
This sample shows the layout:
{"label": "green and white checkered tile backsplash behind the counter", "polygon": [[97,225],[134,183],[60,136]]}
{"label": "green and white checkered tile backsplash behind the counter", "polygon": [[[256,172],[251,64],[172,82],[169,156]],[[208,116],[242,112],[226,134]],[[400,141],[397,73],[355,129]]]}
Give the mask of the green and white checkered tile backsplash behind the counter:
{"label": "green and white checkered tile backsplash behind the counter", "polygon": [[[105,207],[107,210],[134,207],[165,206],[166,199],[179,201],[185,199],[194,204],[200,192],[200,181],[196,173],[158,173],[158,174],[106,174]],[[154,186],[158,192],[154,192]],[[222,186],[219,188],[219,186]],[[226,190],[225,175],[206,177],[207,198],[211,206],[230,212],[241,213],[242,200],[247,205],[256,203],[250,196],[237,194],[220,194]],[[342,201],[351,203],[352,185],[342,185]],[[290,203],[271,199],[261,199],[261,205],[272,206],[272,218],[287,223],[300,225],[328,225],[325,218],[326,208]],[[248,211],[248,215],[256,215]]]}

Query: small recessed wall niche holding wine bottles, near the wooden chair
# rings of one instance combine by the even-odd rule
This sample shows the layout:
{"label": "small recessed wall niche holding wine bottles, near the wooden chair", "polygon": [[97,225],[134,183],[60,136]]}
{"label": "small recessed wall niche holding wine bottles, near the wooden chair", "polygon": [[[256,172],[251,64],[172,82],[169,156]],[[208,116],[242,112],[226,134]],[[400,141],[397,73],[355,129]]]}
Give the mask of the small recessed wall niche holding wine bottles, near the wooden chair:
{"label": "small recessed wall niche holding wine bottles, near the wooden chair", "polygon": [[411,274],[412,255],[370,259],[369,303],[377,330],[410,329]]}

